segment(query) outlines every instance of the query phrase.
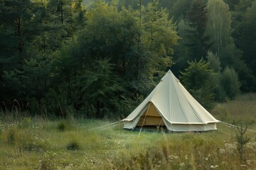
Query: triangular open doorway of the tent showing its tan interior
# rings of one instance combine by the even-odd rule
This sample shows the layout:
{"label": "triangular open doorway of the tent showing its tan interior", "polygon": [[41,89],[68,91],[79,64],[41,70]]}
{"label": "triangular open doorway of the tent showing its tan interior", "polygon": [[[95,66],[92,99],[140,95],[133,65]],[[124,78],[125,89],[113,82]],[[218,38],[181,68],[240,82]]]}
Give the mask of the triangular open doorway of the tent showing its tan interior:
{"label": "triangular open doorway of the tent showing its tan interior", "polygon": [[150,103],[146,111],[144,111],[144,113],[140,116],[136,129],[140,128],[150,131],[166,130],[164,120],[153,103]]}

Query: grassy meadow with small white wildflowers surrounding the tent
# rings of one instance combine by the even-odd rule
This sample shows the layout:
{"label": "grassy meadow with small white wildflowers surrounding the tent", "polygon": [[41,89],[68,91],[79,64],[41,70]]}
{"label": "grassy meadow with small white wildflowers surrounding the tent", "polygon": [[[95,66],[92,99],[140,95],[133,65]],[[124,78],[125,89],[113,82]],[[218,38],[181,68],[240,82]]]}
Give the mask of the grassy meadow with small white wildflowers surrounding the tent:
{"label": "grassy meadow with small white wildflowers surrounding the tent", "polygon": [[[0,169],[256,169],[256,95],[219,103],[210,132],[131,132],[111,120],[40,117],[0,121]],[[105,126],[103,126],[105,125]]]}

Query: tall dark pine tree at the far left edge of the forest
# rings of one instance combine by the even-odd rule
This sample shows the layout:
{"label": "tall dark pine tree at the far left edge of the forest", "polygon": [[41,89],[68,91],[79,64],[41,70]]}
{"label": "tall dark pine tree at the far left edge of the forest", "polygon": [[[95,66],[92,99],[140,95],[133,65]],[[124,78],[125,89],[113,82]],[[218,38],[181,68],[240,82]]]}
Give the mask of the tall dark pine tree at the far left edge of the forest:
{"label": "tall dark pine tree at the far left edge of the forest", "polygon": [[7,103],[13,98],[24,98],[19,96],[22,89],[18,89],[23,84],[15,86],[20,81],[17,74],[28,59],[33,40],[43,33],[45,8],[37,1],[3,0],[0,13],[0,94]]}

